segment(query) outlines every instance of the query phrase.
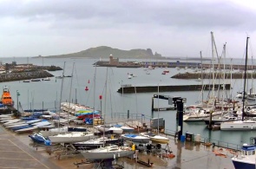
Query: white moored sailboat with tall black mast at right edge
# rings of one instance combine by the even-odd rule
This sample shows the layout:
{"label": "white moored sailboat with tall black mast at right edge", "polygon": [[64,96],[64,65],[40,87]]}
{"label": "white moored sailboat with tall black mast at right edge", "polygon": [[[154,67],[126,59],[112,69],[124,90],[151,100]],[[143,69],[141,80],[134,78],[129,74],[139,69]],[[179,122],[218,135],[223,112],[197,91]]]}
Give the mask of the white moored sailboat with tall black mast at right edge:
{"label": "white moored sailboat with tall black mast at right edge", "polygon": [[248,41],[249,37],[246,39],[246,65],[244,74],[244,91],[243,91],[243,105],[242,105],[242,120],[229,121],[220,123],[220,130],[256,130],[256,121],[254,120],[244,120],[245,116],[245,101],[246,101],[246,70],[247,70],[247,57],[248,57]]}

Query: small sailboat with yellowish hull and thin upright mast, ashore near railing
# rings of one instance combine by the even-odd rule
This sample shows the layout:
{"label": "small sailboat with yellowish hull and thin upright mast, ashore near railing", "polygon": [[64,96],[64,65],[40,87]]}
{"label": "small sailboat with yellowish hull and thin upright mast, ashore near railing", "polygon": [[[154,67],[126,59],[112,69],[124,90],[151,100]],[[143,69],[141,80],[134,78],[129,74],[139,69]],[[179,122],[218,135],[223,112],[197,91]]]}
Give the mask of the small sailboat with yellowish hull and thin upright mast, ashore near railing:
{"label": "small sailboat with yellowish hull and thin upright mast, ashore near railing", "polygon": [[[159,84],[157,88],[157,94],[158,94],[158,107],[159,107]],[[158,114],[158,125],[157,125],[157,134],[154,133],[141,133],[141,136],[148,137],[150,140],[161,143],[161,144],[167,144],[169,142],[169,139],[167,137],[161,136],[159,134],[159,108],[157,108],[157,114]]]}

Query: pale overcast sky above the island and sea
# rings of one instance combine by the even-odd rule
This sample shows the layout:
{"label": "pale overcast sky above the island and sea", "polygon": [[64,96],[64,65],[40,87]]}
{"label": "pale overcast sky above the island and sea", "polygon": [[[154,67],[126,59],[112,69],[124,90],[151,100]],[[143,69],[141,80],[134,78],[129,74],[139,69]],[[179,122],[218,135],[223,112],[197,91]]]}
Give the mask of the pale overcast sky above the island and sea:
{"label": "pale overcast sky above the island and sea", "polygon": [[1,57],[98,46],[211,57],[211,31],[226,57],[245,55],[246,36],[256,49],[255,0],[0,0],[0,23]]}

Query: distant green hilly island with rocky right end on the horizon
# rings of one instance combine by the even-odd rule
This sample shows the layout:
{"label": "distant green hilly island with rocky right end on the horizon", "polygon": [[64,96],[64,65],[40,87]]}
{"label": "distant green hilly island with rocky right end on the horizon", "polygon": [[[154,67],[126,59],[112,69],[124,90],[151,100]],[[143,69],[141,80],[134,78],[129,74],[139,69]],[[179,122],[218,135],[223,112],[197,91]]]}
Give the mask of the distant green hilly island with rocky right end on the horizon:
{"label": "distant green hilly island with rocky right end on the horizon", "polygon": [[121,50],[121,49],[112,49],[107,46],[100,46],[96,48],[90,48],[82,50],[81,52],[73,54],[64,54],[64,55],[49,55],[43,57],[49,58],[108,58],[109,55],[113,55],[114,58],[121,59],[147,59],[147,58],[158,58],[161,59],[161,55],[156,53],[153,54],[151,49],[131,49],[131,50]]}

